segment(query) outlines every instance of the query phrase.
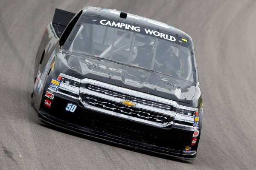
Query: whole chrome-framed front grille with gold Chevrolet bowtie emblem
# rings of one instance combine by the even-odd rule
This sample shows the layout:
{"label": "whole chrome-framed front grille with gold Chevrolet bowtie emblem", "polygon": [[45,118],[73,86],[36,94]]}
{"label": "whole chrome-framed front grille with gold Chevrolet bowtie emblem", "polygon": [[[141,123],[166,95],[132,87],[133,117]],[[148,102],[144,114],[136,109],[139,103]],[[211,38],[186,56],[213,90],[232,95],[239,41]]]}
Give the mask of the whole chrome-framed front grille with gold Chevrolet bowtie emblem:
{"label": "whole chrome-framed front grille with gold Chevrolet bowtie emblem", "polygon": [[178,107],[168,99],[91,79],[81,80],[79,101],[93,111],[158,127],[171,125]]}

